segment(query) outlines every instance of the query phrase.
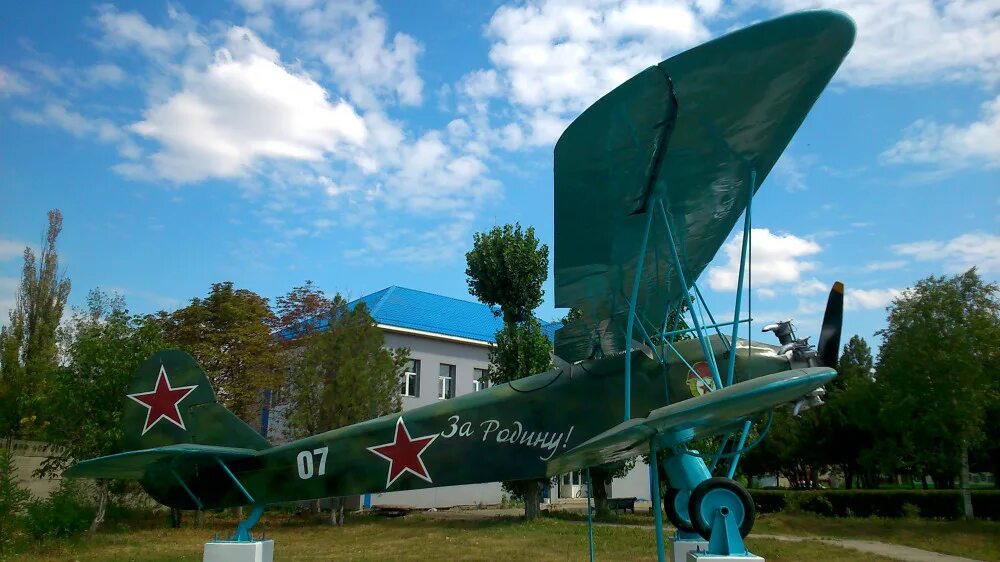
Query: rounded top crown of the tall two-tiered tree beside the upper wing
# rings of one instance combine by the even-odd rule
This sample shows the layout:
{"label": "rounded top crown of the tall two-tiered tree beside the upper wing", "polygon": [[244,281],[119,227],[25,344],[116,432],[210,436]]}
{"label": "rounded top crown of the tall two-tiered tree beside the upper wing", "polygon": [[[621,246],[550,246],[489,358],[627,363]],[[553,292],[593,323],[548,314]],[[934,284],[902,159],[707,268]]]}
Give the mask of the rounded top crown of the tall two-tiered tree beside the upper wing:
{"label": "rounded top crown of the tall two-tiered tree beside the upper wing", "polygon": [[469,293],[503,314],[504,322],[531,318],[542,304],[542,283],[549,275],[549,247],[539,245],[534,227],[515,223],[473,235],[465,254]]}

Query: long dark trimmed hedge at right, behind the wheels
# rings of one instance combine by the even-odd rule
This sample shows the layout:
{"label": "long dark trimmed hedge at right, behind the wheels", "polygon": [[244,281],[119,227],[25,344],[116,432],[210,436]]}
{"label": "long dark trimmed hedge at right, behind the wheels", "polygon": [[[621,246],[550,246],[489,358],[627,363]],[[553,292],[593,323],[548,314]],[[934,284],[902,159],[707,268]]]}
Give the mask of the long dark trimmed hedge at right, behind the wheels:
{"label": "long dark trimmed hedge at right, behind the wheels", "polygon": [[[907,517],[957,519],[962,516],[959,490],[750,490],[758,513],[796,509],[836,517]],[[973,490],[978,519],[1000,520],[1000,491]]]}

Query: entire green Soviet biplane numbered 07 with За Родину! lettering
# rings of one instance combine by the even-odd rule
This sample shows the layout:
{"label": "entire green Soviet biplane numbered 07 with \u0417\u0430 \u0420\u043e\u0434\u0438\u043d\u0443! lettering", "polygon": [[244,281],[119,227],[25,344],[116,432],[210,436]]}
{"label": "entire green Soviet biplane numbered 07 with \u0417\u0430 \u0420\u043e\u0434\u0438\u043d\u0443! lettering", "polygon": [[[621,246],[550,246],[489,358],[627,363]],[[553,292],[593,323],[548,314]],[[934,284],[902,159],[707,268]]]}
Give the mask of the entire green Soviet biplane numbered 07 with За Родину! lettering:
{"label": "entire green Soviet biplane numbered 07 with \u0417\u0430 \u0420\u043e\u0434\u0438\u043d\u0443! lettering", "polygon": [[[745,536],[755,508],[732,477],[751,423],[821,402],[843,310],[837,283],[817,349],[789,322],[766,328],[777,345],[738,337],[752,198],[853,40],[840,12],[765,21],[643,70],[569,125],[555,147],[555,301],[582,315],[556,334],[557,368],[272,446],[217,402],[190,356],[163,351],[123,397],[126,452],[66,476],[137,479],[181,509],[252,505],[246,539],[267,504],[544,479],[650,454],[654,505],[666,478],[679,529],[707,539],[721,518]],[[736,304],[719,322],[695,281],[740,215]],[[677,327],[683,314],[691,328]],[[716,452],[690,447],[712,436]]]}

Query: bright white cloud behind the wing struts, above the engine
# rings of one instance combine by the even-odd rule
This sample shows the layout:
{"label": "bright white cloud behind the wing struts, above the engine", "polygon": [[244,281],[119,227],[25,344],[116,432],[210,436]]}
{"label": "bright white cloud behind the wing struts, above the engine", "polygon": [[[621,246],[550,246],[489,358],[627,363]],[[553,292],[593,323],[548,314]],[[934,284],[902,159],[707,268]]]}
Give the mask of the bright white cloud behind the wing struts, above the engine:
{"label": "bright white cloud behind the wing struts, above the engine", "polygon": [[[734,236],[723,247],[726,263],[708,270],[708,285],[716,291],[736,289],[739,275],[740,249],[743,233]],[[754,287],[797,283],[802,274],[816,269],[816,264],[807,261],[809,256],[820,252],[819,244],[799,238],[794,234],[774,234],[767,228],[754,228],[750,236],[753,254]]]}

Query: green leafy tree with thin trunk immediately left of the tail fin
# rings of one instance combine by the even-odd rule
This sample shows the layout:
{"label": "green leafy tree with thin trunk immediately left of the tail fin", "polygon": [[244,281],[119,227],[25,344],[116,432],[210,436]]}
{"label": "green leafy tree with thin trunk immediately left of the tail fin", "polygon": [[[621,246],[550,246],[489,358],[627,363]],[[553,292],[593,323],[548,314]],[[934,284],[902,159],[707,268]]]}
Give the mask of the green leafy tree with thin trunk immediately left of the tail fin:
{"label": "green leafy tree with thin trunk immediately left of the tail fin", "polygon": [[[67,365],[53,374],[45,395],[46,437],[54,456],[43,475],[57,476],[73,461],[124,450],[123,399],[139,366],[165,347],[151,318],[130,315],[120,296],[91,291],[87,310],[73,314],[63,330]],[[93,536],[104,520],[109,480],[98,480],[97,513],[88,531]]]}

